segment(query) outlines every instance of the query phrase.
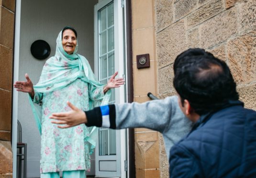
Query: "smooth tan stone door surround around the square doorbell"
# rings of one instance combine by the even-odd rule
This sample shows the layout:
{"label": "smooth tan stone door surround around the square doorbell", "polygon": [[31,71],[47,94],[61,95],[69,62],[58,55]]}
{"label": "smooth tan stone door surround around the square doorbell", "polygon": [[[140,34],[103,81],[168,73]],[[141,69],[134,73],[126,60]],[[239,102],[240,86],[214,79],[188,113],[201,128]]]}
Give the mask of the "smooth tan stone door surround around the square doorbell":
{"label": "smooth tan stone door surround around the square doorbell", "polygon": [[[157,61],[155,39],[155,0],[131,0],[134,101],[150,100],[147,93],[157,95]],[[137,69],[136,56],[149,54],[150,67]],[[135,129],[136,178],[160,178],[159,133],[145,128]]]}

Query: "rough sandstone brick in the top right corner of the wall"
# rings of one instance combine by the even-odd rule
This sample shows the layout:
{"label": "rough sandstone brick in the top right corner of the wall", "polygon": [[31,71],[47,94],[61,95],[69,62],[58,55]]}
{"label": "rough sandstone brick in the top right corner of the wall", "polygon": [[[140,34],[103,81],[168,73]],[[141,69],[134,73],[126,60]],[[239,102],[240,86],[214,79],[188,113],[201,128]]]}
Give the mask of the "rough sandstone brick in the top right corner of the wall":
{"label": "rough sandstone brick in the top right corner of the wall", "polygon": [[247,0],[238,5],[239,32],[256,29],[256,0]]}

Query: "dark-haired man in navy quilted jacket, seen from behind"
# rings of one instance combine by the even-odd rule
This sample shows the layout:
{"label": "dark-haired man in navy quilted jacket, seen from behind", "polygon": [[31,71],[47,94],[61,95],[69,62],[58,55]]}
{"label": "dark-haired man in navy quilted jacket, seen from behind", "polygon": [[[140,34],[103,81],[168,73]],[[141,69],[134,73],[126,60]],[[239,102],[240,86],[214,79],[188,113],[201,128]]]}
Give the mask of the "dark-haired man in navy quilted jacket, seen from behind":
{"label": "dark-haired man in navy quilted jacket, seen from behind", "polygon": [[256,111],[238,100],[229,67],[202,49],[177,61],[179,106],[195,125],[170,151],[170,177],[256,177]]}

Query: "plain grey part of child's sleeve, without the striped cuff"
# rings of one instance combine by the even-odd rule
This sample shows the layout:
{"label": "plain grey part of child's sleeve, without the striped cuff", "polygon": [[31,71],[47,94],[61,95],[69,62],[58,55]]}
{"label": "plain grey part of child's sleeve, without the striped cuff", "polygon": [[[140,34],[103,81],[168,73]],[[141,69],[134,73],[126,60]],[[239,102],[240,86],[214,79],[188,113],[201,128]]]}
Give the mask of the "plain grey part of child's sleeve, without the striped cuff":
{"label": "plain grey part of child's sleeve, without the striped cuff", "polygon": [[116,127],[119,129],[144,127],[163,133],[169,127],[172,111],[178,107],[172,104],[173,100],[177,100],[177,97],[115,105]]}

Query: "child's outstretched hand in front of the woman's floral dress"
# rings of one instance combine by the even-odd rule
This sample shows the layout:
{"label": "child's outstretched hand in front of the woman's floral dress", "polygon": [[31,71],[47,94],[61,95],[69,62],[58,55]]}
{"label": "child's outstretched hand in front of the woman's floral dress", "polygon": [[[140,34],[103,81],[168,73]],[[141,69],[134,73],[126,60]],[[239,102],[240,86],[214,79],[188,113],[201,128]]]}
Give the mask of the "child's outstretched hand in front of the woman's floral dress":
{"label": "child's outstretched hand in front of the woman's floral dress", "polygon": [[68,127],[79,125],[81,123],[87,123],[87,118],[84,111],[79,110],[76,106],[71,104],[69,101],[67,101],[67,105],[72,110],[68,112],[53,113],[50,116],[50,119],[56,119],[58,121],[53,120],[52,123],[66,124],[66,125],[58,125],[59,128],[68,128]]}

